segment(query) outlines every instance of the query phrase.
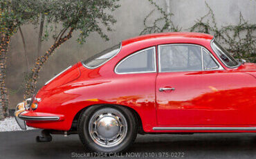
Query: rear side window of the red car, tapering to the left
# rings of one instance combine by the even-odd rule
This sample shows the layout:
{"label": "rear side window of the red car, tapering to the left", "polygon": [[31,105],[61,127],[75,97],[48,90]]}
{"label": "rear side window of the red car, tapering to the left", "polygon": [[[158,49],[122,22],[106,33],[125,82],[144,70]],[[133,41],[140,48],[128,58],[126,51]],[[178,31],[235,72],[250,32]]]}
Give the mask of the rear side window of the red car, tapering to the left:
{"label": "rear side window of the red car, tapering to the left", "polygon": [[147,48],[122,59],[116,73],[149,73],[156,71],[155,48]]}

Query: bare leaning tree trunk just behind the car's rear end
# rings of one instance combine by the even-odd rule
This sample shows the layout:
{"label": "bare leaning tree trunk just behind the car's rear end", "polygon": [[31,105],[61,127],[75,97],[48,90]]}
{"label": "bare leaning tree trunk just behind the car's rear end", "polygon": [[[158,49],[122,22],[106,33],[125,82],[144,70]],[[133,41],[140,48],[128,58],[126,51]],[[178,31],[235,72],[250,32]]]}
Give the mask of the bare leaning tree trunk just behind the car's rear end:
{"label": "bare leaning tree trunk just behind the car's rear end", "polygon": [[[62,32],[62,35],[64,34],[64,32]],[[59,39],[55,41],[55,44],[53,44],[51,48],[49,48],[49,50],[46,51],[46,53],[43,56],[37,58],[37,62],[35,62],[35,67],[32,69],[32,73],[30,73],[28,81],[26,82],[26,92],[24,95],[24,99],[32,97],[33,93],[35,93],[35,84],[37,84],[38,74],[39,71],[42,70],[42,66],[47,61],[48,57],[53,54],[56,48],[60,47],[60,45],[62,45],[65,41],[72,37],[72,33],[73,28],[69,30],[66,36],[62,37],[61,35]]]}

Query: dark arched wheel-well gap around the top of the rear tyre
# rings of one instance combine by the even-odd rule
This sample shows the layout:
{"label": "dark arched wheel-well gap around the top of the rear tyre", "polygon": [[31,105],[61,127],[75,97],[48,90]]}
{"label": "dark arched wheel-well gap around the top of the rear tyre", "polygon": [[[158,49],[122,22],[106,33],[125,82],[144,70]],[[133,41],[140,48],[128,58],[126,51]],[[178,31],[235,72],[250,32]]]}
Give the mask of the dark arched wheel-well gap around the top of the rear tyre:
{"label": "dark arched wheel-well gap around the top of the rear tyre", "polygon": [[[122,105],[117,105],[117,104],[96,104],[96,105],[91,105],[91,106],[97,106],[97,105],[111,105],[111,106],[122,106]],[[81,113],[85,110],[88,109],[90,106],[86,106],[84,109],[80,110],[77,112],[77,114],[75,115],[75,118],[73,119],[73,123],[72,123],[72,128],[73,129],[77,129],[77,121],[81,115]],[[131,109],[128,106],[122,106],[125,107],[127,109],[129,109],[129,111],[131,111],[131,113],[134,115],[134,117],[136,118],[137,124],[138,124],[138,133],[140,134],[145,134],[145,131],[143,130],[143,122],[141,121],[140,115],[138,115],[137,111],[135,111],[134,109]]]}

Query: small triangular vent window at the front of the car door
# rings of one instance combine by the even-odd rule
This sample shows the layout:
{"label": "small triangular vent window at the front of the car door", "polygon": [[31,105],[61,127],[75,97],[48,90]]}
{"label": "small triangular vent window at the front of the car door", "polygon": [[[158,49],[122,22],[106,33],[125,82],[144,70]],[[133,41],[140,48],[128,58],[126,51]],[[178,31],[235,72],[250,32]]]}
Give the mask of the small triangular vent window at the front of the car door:
{"label": "small triangular vent window at the front of the car door", "polygon": [[203,49],[203,69],[214,70],[219,68],[218,64],[214,61],[213,57],[205,49]]}

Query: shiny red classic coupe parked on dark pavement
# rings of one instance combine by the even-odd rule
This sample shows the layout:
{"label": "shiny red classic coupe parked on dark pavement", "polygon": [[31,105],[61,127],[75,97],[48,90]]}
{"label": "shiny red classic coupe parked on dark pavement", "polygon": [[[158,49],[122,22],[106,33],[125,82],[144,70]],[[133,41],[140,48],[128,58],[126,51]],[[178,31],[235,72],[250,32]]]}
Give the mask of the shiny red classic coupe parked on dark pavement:
{"label": "shiny red classic coupe parked on dark pavement", "polygon": [[255,78],[256,64],[211,35],[143,35],[69,66],[18,104],[16,118],[44,129],[39,142],[78,133],[107,153],[127,149],[137,133],[256,133]]}

